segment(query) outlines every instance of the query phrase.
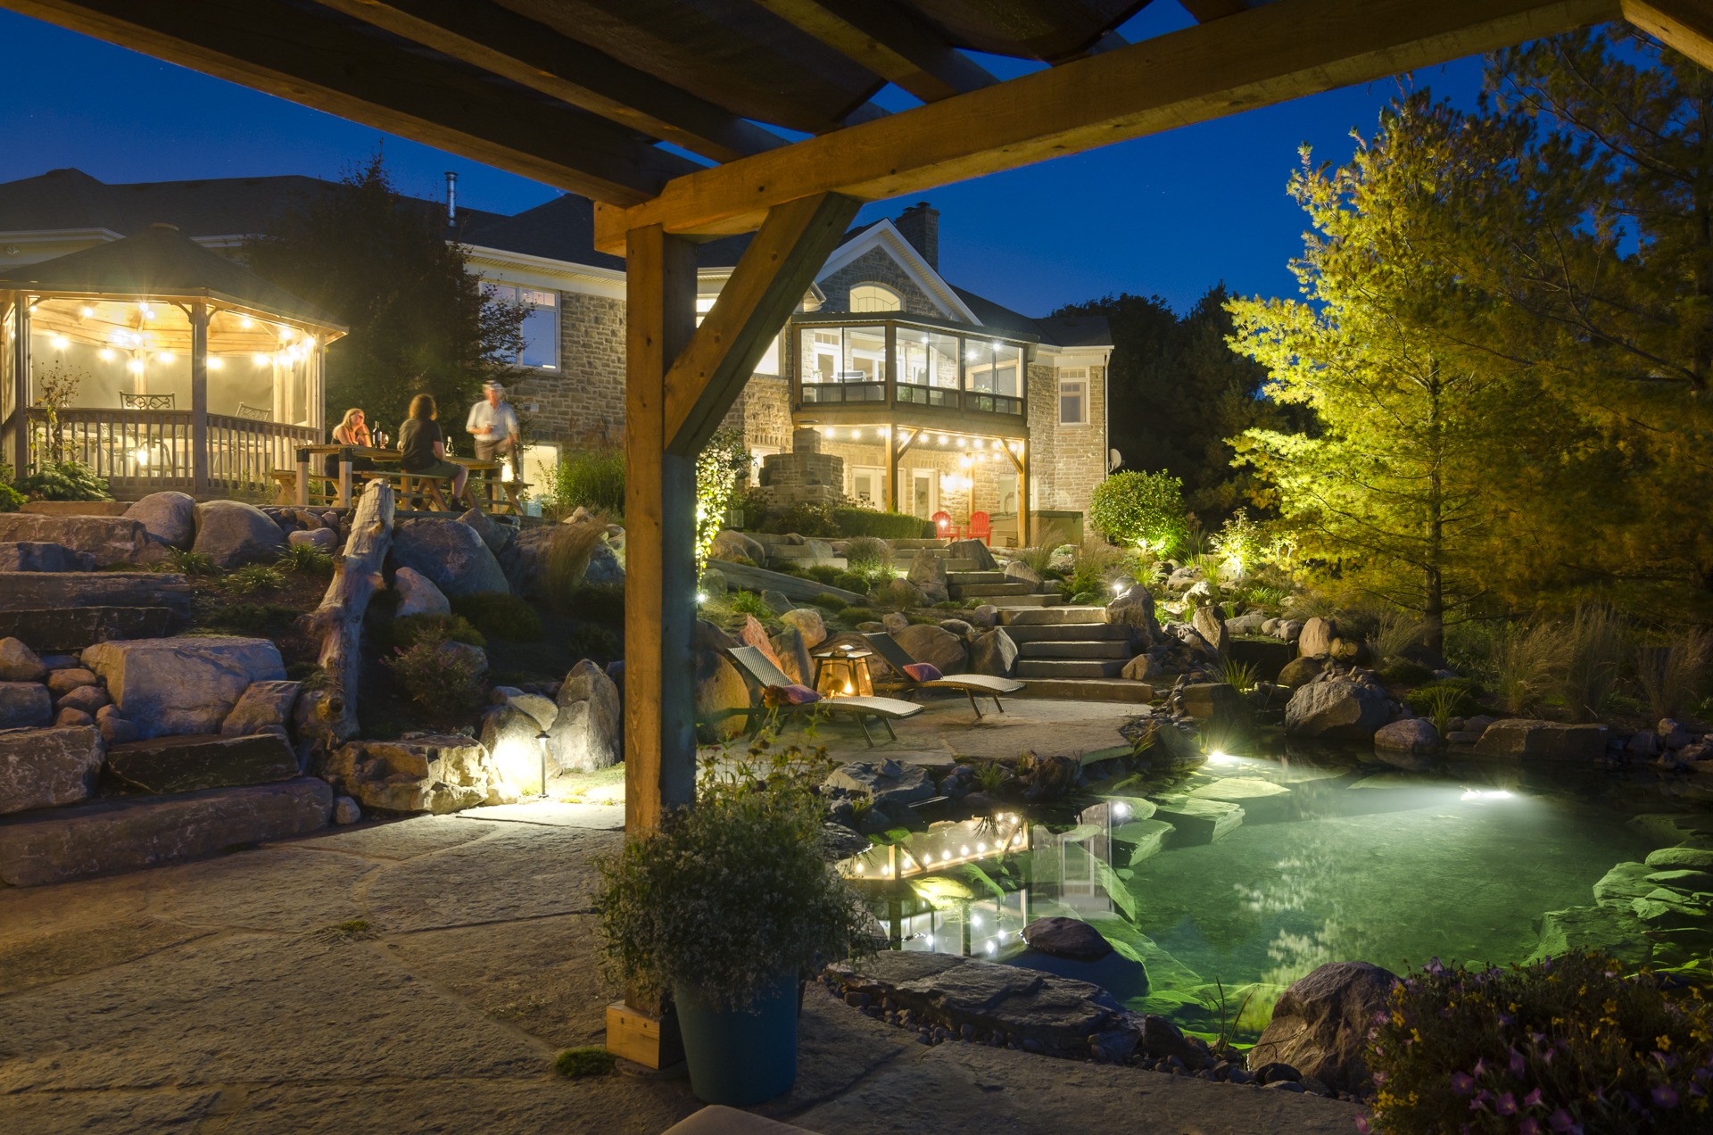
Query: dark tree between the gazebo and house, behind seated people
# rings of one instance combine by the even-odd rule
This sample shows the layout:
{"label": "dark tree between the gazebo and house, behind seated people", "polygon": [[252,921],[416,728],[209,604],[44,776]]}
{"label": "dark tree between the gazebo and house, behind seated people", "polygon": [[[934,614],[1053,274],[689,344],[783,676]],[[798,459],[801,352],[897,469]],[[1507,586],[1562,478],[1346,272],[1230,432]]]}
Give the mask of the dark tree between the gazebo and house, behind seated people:
{"label": "dark tree between the gazebo and house, behind seated people", "polygon": [[522,309],[486,302],[468,252],[447,240],[445,211],[401,195],[379,153],[245,257],[349,327],[327,348],[331,420],[361,406],[397,432],[409,399],[433,394],[442,429],[461,437],[483,381],[519,374],[504,360],[521,346]]}

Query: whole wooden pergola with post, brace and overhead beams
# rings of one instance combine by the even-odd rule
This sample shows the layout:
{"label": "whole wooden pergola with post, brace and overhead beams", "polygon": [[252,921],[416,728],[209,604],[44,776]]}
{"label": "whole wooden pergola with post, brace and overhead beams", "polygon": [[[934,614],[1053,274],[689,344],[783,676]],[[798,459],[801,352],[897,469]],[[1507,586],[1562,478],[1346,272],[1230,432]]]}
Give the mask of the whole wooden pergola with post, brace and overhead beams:
{"label": "whole wooden pergola with post, brace and overhead beams", "polygon": [[[1609,19],[1713,62],[1713,0],[1177,2],[1194,27],[1124,43],[1146,0],[0,0],[598,202],[629,281],[630,826],[694,789],[695,453],[860,204]],[[889,82],[922,105],[874,106]],[[745,231],[697,327],[695,245]]]}

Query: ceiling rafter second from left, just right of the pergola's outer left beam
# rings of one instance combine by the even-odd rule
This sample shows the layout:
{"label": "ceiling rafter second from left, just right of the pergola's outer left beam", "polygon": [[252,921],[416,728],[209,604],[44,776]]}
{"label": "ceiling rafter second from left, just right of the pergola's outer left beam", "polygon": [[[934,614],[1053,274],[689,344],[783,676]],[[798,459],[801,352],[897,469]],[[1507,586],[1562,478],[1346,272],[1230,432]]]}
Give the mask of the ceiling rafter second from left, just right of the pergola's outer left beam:
{"label": "ceiling rafter second from left, just right of the pergola's outer left beam", "polygon": [[320,0],[322,5],[690,153],[731,161],[785,139],[497,3]]}

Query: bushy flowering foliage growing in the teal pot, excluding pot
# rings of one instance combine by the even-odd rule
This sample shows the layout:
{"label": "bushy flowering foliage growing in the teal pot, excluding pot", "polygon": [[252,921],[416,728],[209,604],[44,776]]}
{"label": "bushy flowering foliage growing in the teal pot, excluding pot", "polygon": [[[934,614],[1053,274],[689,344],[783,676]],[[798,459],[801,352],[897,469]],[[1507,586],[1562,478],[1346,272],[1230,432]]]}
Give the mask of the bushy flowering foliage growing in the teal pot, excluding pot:
{"label": "bushy flowering foliage growing in the teal pot, excluding pot", "polygon": [[872,916],[824,850],[821,772],[800,749],[702,766],[694,808],[598,861],[608,976],[646,998],[694,986],[745,1008],[781,972],[860,950]]}

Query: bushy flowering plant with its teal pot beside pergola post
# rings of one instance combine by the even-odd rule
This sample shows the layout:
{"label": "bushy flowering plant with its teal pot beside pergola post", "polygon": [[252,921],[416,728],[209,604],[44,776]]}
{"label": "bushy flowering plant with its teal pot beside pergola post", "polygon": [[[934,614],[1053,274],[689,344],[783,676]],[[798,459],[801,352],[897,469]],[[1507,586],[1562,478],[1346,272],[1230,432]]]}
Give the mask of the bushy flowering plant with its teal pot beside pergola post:
{"label": "bushy flowering plant with its teal pot beside pergola post", "polygon": [[711,1104],[791,1087],[803,976],[865,941],[870,916],[824,850],[814,772],[795,751],[707,765],[694,808],[598,864],[608,972],[671,998],[690,1087]]}

